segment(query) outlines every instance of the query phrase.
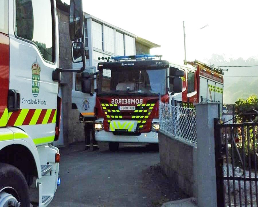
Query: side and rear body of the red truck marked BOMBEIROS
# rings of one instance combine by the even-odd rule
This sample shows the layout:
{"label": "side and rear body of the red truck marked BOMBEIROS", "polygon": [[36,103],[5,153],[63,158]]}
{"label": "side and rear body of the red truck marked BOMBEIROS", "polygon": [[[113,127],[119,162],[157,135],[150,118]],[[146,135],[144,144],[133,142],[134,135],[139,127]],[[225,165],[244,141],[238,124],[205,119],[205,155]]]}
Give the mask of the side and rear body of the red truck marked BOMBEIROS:
{"label": "side and rear body of the red truck marked BOMBEIROS", "polygon": [[[185,65],[170,64],[170,70],[183,70],[182,93],[175,93],[170,100],[181,102],[223,102],[223,72],[218,66],[208,65],[198,60],[185,61]],[[173,104],[173,102],[170,102]],[[185,106],[187,103],[185,103]],[[189,104],[188,104],[189,105]]]}

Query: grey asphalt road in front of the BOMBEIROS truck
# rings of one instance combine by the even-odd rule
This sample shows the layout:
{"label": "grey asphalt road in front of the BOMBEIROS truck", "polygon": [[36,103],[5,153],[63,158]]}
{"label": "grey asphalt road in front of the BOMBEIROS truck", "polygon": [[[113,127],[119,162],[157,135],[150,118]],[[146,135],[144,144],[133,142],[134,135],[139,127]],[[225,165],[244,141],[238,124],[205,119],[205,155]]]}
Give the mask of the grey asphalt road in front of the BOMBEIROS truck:
{"label": "grey asphalt road in front of the BOMBEIROS truck", "polygon": [[106,144],[100,147],[85,151],[81,143],[59,148],[61,185],[50,207],[153,207],[180,197],[161,176],[157,147],[124,145],[118,152],[110,152]]}

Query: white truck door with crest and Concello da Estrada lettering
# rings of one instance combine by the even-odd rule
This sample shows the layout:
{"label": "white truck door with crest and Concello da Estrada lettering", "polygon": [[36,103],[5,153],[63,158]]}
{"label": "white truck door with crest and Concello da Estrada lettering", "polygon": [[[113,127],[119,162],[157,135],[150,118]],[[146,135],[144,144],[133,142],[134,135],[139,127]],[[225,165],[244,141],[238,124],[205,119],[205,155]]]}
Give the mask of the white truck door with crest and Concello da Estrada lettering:
{"label": "white truck door with crest and Concello da Estrada lettering", "polygon": [[8,125],[26,131],[36,144],[49,143],[55,136],[58,94],[58,82],[52,80],[59,53],[55,1],[9,3],[15,4],[9,5],[15,8],[9,11],[9,89],[20,94],[20,107],[9,109]]}

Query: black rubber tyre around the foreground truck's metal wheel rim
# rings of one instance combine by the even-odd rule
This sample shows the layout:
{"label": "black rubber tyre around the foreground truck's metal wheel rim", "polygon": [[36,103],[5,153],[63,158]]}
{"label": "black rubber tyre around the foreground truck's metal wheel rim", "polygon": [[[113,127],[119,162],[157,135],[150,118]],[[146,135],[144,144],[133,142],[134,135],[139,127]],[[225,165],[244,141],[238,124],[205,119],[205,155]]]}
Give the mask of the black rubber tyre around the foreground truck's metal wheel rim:
{"label": "black rubber tyre around the foreground truck's metal wheel rim", "polygon": [[27,182],[22,172],[13,165],[0,163],[0,191],[14,196],[22,207],[30,207]]}

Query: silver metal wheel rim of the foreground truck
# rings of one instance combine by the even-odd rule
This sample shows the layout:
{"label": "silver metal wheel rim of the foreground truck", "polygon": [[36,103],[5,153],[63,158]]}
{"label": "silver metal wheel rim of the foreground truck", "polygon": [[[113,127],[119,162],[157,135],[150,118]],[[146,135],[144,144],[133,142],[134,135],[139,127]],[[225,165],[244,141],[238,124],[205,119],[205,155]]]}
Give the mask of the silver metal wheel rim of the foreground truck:
{"label": "silver metal wheel rim of the foreground truck", "polygon": [[19,207],[18,194],[14,188],[5,187],[0,190],[0,207]]}

